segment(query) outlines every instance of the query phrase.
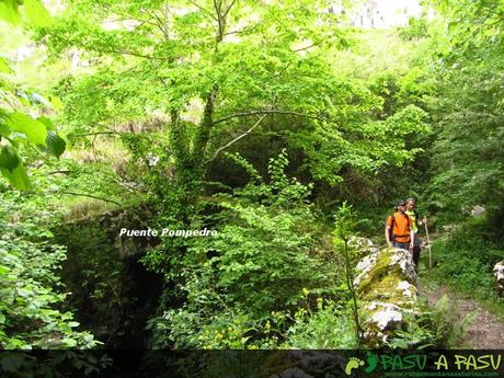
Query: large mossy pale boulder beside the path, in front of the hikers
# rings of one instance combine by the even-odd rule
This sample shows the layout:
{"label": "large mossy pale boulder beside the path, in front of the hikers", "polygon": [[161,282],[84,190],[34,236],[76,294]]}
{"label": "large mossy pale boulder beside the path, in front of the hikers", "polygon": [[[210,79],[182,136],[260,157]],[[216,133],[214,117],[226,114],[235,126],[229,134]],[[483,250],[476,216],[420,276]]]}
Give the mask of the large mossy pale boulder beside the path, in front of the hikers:
{"label": "large mossy pale boulder beside the path, in front of the hikers", "polygon": [[354,287],[364,313],[364,344],[382,346],[404,325],[404,314],[419,312],[412,253],[386,248],[360,260],[356,270]]}

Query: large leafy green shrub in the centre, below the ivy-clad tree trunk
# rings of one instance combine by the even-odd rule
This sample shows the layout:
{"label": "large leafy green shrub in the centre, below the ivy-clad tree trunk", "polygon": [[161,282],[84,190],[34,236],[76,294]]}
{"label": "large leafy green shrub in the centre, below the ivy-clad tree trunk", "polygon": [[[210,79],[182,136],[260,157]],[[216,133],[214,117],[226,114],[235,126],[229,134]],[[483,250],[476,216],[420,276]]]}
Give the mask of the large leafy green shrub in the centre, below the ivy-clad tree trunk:
{"label": "large leafy green shrub in the centre, below the ivy-clad tree trunk", "polygon": [[[231,158],[253,181],[218,196],[218,236],[188,247],[177,283],[185,302],[150,322],[157,346],[275,347],[293,322],[288,314],[309,306],[303,289],[328,297],[342,291],[343,275],[317,250],[310,187],[285,175],[285,152],[270,161],[270,182]],[[272,313],[283,313],[282,322]]]}

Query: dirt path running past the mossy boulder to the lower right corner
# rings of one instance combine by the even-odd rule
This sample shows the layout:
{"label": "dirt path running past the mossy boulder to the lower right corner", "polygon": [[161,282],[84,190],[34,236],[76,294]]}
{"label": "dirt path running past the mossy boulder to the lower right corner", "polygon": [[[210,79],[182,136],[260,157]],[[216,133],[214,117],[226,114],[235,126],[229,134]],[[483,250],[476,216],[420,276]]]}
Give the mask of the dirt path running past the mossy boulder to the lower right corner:
{"label": "dirt path running past the mossy boulder to the lower right corner", "polygon": [[502,350],[504,348],[504,322],[493,313],[483,309],[477,300],[462,298],[455,295],[447,286],[436,283],[425,283],[420,279],[420,297],[426,298],[429,305],[435,305],[445,294],[456,309],[457,318],[463,319],[466,314],[476,312],[477,317],[463,341],[465,347],[476,350]]}

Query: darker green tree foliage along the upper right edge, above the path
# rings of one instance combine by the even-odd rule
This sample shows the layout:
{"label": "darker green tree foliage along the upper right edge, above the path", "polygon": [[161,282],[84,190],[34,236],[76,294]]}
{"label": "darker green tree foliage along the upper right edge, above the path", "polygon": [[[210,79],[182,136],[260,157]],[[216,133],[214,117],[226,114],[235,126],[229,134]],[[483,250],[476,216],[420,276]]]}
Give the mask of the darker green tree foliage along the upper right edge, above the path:
{"label": "darker green tree foliage along the upper right edge, above the path", "polygon": [[[503,209],[503,53],[502,2],[446,1],[449,44],[436,62],[439,93],[433,99],[437,137],[432,203],[465,209],[476,204]],[[447,46],[448,45],[448,46]],[[443,191],[450,195],[444,195]]]}

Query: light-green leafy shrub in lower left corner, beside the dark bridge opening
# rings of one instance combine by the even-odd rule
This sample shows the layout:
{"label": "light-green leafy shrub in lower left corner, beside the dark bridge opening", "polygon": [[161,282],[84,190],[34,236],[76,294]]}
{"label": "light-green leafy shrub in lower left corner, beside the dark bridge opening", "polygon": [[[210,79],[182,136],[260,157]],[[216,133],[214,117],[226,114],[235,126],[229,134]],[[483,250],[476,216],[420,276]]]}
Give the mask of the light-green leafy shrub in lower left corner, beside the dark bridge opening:
{"label": "light-green leafy shrub in lower left corner, beside the dark bridge opening", "polygon": [[[3,199],[3,198],[2,198]],[[66,259],[51,233],[32,220],[0,220],[0,346],[2,348],[93,347],[99,344],[58,305],[66,295],[55,272]]]}

